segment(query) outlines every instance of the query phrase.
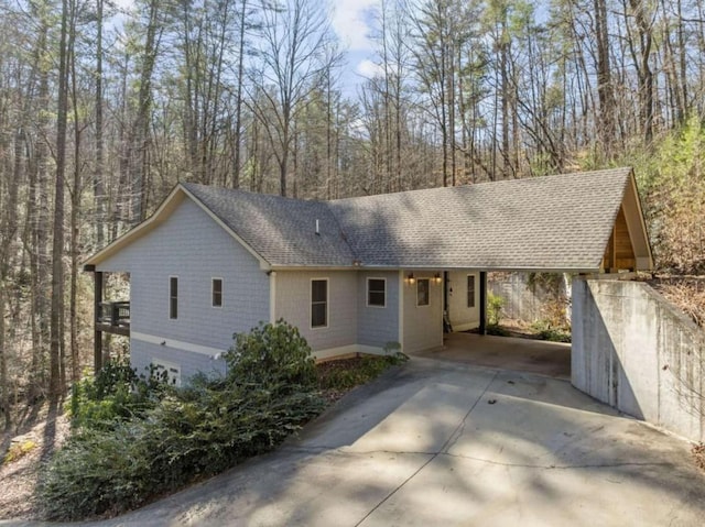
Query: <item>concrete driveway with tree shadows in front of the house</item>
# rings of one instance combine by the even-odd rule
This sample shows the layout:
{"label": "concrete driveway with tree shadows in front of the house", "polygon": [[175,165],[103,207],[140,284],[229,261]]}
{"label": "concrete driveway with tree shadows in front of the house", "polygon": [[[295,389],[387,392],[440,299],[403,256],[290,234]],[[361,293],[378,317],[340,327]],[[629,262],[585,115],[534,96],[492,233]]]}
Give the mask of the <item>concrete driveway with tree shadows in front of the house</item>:
{"label": "concrete driveway with tree shadows in front of the house", "polygon": [[563,380],[415,358],[276,452],[96,525],[702,526],[688,450]]}

